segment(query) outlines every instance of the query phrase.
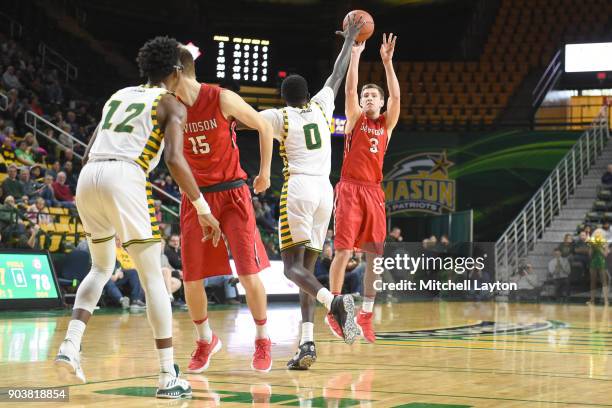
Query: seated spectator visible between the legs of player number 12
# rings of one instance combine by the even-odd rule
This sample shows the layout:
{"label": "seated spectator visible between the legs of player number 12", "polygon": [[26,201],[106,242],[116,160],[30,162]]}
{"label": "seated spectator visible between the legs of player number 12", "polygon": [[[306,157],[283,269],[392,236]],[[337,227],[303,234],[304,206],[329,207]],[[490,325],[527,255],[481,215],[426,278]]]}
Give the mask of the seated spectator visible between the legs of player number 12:
{"label": "seated spectator visible between the legs of player number 12", "polygon": [[[120,305],[123,309],[129,307],[133,312],[142,311],[146,308],[146,305],[144,303],[144,291],[136,272],[136,265],[121,246],[119,237],[115,238],[115,245],[117,247],[117,265],[111,278],[104,285],[104,292],[113,303]],[[121,293],[120,288],[125,286],[130,287],[130,297]]]}

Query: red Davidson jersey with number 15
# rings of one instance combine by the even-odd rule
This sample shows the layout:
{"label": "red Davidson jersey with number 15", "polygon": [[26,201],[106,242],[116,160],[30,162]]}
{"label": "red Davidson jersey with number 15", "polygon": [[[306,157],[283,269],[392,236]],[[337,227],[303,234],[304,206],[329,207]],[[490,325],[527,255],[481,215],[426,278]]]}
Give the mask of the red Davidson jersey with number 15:
{"label": "red Davidson jersey with number 15", "polygon": [[198,98],[187,107],[183,154],[200,187],[247,178],[240,167],[235,122],[221,112],[221,91],[202,84]]}

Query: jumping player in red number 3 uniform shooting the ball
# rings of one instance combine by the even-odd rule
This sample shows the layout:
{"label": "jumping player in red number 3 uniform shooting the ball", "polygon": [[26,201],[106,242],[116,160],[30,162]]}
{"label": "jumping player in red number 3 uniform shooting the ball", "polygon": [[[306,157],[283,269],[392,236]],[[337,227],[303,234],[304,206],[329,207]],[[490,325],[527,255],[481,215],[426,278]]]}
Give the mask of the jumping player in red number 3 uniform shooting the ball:
{"label": "jumping player in red number 3 uniform shooting the ball", "polygon": [[[373,271],[374,259],[382,255],[386,235],[385,194],[382,182],[383,160],[391,133],[400,113],[400,88],[393,69],[393,51],[397,37],[383,34],[380,56],[385,67],[389,99],[387,111],[381,113],[385,104],[383,89],[375,84],[366,84],[357,94],[359,57],[365,42],[353,46],[351,62],[345,85],[345,143],[344,162],[340,182],[336,185],[334,225],[336,254],[329,273],[332,293],[342,291],[344,271],[354,249],[366,253],[366,271],[363,282],[363,305],[357,315],[357,325],[366,341],[376,339],[372,327],[372,310],[378,279]],[[338,336],[342,331],[332,315],[325,321]]]}

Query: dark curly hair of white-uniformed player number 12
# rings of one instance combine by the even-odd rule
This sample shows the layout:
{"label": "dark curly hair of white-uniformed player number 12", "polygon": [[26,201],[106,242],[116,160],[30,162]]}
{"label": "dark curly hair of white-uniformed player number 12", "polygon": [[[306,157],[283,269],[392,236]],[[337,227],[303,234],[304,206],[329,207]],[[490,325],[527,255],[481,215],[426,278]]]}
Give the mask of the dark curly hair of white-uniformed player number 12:
{"label": "dark curly hair of white-uniformed player number 12", "polygon": [[179,42],[174,38],[158,36],[147,41],[136,57],[140,75],[160,82],[174,71],[179,52]]}

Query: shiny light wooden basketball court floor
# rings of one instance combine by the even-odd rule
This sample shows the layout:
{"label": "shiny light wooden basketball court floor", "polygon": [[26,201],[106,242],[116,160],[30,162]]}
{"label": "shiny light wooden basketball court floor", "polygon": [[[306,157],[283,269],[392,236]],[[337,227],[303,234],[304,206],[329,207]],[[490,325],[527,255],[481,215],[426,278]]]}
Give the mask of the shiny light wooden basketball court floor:
{"label": "shiny light wooden basketball court floor", "polygon": [[[89,383],[66,384],[51,361],[68,314],[5,312],[0,387],[70,385],[70,403],[81,407],[612,406],[612,326],[601,306],[419,302],[379,305],[375,314],[385,339],[347,346],[319,324],[318,308],[319,360],[290,372],[298,309],[273,304],[274,366],[260,374],[249,368],[254,326],[246,307],[211,311],[223,349],[204,375],[187,376],[192,400],[159,401],[151,397],[158,367],[144,314],[94,314],[83,341]],[[186,312],[174,319],[175,355],[185,367],[192,325]],[[57,406],[23,404],[36,405]]]}

